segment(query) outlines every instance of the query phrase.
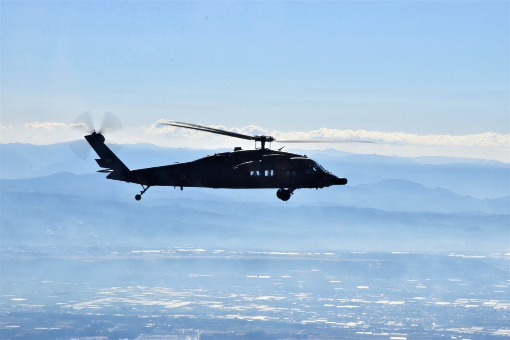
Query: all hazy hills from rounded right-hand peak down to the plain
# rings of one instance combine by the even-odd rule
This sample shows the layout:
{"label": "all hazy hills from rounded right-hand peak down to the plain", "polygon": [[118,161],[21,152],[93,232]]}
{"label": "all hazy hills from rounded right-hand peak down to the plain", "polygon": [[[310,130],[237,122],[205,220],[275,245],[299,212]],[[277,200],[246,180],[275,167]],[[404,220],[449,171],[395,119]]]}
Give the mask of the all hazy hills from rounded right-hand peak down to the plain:
{"label": "all hazy hills from rounded right-hand peak down to the plain", "polygon": [[154,187],[69,172],[0,180],[11,245],[484,250],[508,247],[508,197],[476,199],[402,179],[296,191]]}

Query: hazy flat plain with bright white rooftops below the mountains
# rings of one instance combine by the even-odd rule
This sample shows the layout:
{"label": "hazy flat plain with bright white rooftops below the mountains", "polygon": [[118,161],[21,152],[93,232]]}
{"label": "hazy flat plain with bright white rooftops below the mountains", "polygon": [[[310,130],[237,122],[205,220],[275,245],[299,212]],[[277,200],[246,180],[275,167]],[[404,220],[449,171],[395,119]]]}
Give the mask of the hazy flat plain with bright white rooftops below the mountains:
{"label": "hazy flat plain with bright white rooftops below the mountains", "polygon": [[509,253],[6,248],[0,335],[509,337],[509,262]]}

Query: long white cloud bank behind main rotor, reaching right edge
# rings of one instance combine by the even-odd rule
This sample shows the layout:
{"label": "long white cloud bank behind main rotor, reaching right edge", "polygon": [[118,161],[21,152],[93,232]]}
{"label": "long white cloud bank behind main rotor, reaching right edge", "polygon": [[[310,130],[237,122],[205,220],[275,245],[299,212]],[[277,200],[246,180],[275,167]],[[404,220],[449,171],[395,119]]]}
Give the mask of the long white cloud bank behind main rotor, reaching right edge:
{"label": "long white cloud bank behind main rotor, reaching right edge", "polygon": [[[206,132],[197,130],[177,128],[174,126],[161,125],[168,120],[160,119],[156,123],[145,128],[147,135],[167,135],[180,138],[201,138],[210,136]],[[471,135],[417,135],[404,132],[381,132],[367,130],[339,130],[320,128],[308,132],[292,131],[280,132],[263,129],[260,126],[248,125],[245,127],[234,127],[227,129],[223,125],[210,125],[210,127],[224,129],[245,135],[266,135],[273,136],[277,140],[346,140],[346,141],[368,141],[397,145],[420,145],[420,146],[467,146],[467,147],[509,147],[510,135],[485,132]]]}

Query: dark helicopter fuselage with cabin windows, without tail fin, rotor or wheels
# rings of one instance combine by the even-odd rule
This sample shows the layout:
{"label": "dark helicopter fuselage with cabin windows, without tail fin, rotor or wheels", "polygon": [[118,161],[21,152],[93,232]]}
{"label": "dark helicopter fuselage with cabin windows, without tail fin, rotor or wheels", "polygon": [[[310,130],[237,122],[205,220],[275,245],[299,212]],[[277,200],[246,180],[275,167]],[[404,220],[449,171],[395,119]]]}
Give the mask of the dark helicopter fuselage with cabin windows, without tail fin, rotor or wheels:
{"label": "dark helicopter fuselage with cabin windows, without tail fin, rotor or wheels", "polygon": [[[131,170],[121,178],[144,186],[323,188],[346,184],[307,156],[270,149],[216,153],[193,162]],[[126,178],[127,177],[127,178]]]}

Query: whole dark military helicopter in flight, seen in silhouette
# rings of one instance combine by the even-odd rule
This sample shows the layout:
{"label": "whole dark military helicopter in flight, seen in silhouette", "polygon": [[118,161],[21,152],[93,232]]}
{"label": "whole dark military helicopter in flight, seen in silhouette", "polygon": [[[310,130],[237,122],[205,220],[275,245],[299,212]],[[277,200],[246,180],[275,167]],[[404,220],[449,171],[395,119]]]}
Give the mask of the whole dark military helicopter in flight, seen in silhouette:
{"label": "whole dark military helicopter in flight, seen in silhouette", "polygon": [[[100,173],[108,173],[106,178],[136,183],[142,186],[137,201],[153,186],[224,189],[276,189],[276,196],[288,201],[297,189],[320,189],[334,185],[346,185],[347,178],[337,177],[324,169],[319,163],[300,155],[272,150],[266,145],[280,143],[374,143],[367,141],[345,140],[277,140],[271,136],[250,136],[230,132],[205,125],[164,121],[160,125],[188,128],[219,134],[244,140],[255,141],[255,149],[243,150],[235,147],[233,151],[215,153],[204,158],[186,162],[130,170],[105,144],[105,137],[95,130],[85,139],[99,156],[95,161]],[[257,147],[260,143],[260,147]]]}

